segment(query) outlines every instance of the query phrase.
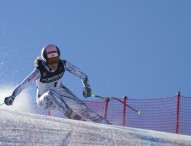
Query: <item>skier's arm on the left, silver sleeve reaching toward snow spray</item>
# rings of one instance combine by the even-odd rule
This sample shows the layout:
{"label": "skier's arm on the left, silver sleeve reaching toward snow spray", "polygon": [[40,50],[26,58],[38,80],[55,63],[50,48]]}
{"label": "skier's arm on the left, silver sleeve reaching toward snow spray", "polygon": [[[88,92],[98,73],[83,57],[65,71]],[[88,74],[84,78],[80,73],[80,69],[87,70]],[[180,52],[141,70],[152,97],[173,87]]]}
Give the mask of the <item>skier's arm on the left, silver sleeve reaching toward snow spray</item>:
{"label": "skier's arm on the left, silver sleeve reaching toward snow spray", "polygon": [[14,98],[18,96],[25,88],[32,84],[35,80],[40,77],[40,71],[35,69],[30,75],[28,75],[13,91],[12,95]]}

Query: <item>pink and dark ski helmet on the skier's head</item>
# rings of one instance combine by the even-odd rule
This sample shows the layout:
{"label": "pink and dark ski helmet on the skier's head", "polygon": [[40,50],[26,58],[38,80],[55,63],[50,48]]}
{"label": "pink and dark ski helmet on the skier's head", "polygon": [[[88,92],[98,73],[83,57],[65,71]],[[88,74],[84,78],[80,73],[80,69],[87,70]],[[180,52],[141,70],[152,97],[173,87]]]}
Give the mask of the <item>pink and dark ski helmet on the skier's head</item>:
{"label": "pink and dark ski helmet on the skier's head", "polygon": [[48,58],[60,57],[60,50],[54,44],[46,45],[42,48],[41,57],[46,62]]}

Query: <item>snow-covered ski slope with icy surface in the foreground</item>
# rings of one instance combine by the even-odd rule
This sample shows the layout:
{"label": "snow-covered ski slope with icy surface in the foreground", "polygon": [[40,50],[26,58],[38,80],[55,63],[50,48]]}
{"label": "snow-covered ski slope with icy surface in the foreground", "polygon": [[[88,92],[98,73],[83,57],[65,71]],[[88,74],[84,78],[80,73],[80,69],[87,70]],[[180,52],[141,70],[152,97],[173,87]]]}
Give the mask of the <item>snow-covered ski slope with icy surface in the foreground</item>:
{"label": "snow-covered ski slope with icy surface in the foreground", "polygon": [[191,136],[48,117],[0,107],[0,145],[191,146]]}

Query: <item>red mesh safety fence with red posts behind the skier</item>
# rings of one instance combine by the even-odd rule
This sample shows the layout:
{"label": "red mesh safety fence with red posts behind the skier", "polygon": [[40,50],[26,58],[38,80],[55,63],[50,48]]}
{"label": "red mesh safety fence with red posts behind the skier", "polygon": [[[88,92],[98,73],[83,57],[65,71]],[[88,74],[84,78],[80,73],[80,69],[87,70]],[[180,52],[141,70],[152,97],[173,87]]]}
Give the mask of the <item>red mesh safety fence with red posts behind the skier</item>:
{"label": "red mesh safety fence with red posts behind the skier", "polygon": [[[181,96],[180,92],[166,98],[131,99],[124,96],[84,102],[113,125],[191,135],[191,97]],[[47,115],[47,111],[43,114]],[[51,114],[62,116],[56,111]]]}

